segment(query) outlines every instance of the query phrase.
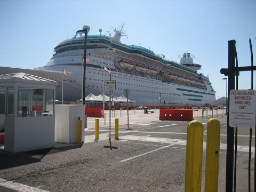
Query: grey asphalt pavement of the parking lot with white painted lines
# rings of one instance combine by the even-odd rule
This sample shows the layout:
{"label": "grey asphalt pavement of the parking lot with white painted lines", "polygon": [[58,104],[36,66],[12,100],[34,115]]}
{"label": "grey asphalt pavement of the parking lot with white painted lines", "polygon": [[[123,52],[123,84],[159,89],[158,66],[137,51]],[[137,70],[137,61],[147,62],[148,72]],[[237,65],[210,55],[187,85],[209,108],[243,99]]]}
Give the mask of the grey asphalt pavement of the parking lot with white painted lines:
{"label": "grey asphalt pavement of the parking lot with white painted lines", "polygon": [[[99,141],[94,142],[95,118],[87,118],[82,145],[55,143],[54,148],[11,154],[0,151],[0,191],[184,191],[188,122],[159,121],[159,111],[115,111],[99,119]],[[197,116],[196,116],[197,113]],[[225,113],[225,111],[224,111]],[[221,122],[219,191],[225,191],[227,116],[222,111],[194,111],[204,126],[216,117]],[[205,115],[205,114],[204,114]],[[218,116],[218,117],[217,117]],[[119,140],[115,140],[115,118]],[[129,129],[130,128],[130,129]],[[252,131],[254,133],[254,130]],[[253,142],[254,146],[254,134]],[[247,191],[249,130],[238,130],[236,191]],[[204,191],[205,145],[202,191]],[[251,186],[254,178],[252,148]]]}

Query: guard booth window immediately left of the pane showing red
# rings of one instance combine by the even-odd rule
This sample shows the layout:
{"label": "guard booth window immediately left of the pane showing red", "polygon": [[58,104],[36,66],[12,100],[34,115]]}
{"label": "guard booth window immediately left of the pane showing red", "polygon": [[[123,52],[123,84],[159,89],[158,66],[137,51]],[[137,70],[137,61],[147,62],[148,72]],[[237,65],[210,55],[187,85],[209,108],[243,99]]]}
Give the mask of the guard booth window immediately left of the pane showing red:
{"label": "guard booth window immediately left of the pane showing red", "polygon": [[27,116],[30,114],[29,90],[18,91],[18,116]]}

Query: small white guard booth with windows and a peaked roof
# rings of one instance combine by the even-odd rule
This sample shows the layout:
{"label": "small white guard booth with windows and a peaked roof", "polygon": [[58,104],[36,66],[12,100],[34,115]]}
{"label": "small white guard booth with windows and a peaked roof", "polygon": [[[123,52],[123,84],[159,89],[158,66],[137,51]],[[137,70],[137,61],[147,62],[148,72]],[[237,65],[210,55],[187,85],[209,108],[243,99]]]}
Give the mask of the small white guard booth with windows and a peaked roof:
{"label": "small white guard booth with windows and a peaked roof", "polygon": [[54,146],[56,84],[25,73],[0,76],[2,112],[4,109],[0,126],[4,125],[5,151],[17,153]]}

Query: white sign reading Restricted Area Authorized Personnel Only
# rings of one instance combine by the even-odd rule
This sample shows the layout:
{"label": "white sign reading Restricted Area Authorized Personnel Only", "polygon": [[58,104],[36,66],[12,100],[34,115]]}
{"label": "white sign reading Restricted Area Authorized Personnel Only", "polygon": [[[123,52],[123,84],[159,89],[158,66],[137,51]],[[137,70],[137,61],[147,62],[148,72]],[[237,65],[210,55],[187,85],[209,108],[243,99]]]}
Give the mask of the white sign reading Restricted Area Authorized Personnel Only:
{"label": "white sign reading Restricted Area Authorized Personnel Only", "polygon": [[229,96],[229,126],[255,127],[256,91],[231,90]]}

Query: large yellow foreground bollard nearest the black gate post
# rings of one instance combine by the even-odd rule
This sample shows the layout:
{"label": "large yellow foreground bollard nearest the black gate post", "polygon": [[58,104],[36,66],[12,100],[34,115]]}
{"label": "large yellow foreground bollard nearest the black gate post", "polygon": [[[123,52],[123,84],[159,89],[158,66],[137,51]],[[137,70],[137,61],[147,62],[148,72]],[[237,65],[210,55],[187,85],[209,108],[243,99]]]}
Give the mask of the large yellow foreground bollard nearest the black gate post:
{"label": "large yellow foreground bollard nearest the black gate post", "polygon": [[220,153],[220,121],[211,118],[207,122],[207,143],[204,191],[218,191]]}

